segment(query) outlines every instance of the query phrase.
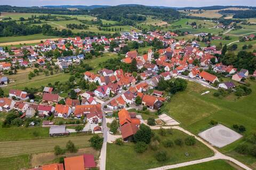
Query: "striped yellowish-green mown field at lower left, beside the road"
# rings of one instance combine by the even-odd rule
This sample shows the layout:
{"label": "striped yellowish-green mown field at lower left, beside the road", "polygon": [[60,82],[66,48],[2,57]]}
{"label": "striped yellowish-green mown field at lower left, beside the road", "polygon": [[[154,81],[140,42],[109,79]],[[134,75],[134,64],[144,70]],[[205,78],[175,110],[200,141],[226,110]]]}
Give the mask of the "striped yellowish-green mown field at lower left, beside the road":
{"label": "striped yellowish-green mown field at lower left, beside the road", "polygon": [[67,137],[51,137],[38,140],[19,140],[0,142],[0,158],[13,157],[24,154],[37,154],[41,152],[51,152],[56,145],[64,148],[71,140],[77,148],[90,147],[88,141],[92,135],[69,135]]}

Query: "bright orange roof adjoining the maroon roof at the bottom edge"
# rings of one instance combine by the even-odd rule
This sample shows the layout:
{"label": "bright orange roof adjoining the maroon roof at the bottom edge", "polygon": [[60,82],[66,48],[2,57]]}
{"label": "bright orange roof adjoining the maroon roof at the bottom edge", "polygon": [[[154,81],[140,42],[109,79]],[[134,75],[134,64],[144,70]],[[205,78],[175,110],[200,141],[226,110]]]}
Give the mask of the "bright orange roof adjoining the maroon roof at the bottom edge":
{"label": "bright orange roof adjoining the maroon roof at the bottom edge", "polygon": [[84,156],[64,158],[65,170],[84,170]]}

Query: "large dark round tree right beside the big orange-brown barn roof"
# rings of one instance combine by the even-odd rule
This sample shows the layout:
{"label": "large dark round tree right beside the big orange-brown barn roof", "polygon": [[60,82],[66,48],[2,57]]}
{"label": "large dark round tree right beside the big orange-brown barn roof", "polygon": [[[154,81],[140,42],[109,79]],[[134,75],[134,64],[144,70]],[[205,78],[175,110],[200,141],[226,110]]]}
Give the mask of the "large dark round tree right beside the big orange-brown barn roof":
{"label": "large dark round tree right beside the big orange-brown barn roof", "polygon": [[145,142],[150,143],[150,139],[152,137],[152,132],[149,126],[145,124],[140,125],[140,129],[134,134],[135,142]]}

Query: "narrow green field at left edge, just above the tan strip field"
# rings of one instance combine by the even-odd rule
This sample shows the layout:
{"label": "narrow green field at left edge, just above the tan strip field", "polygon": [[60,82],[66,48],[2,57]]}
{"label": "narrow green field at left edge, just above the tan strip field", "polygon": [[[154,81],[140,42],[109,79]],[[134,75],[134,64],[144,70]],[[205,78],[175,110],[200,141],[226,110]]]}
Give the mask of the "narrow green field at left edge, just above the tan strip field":
{"label": "narrow green field at left edge, just above the tan strip field", "polygon": [[42,33],[29,35],[29,36],[0,37],[0,43],[10,43],[15,41],[28,41],[28,40],[37,40],[37,39],[47,39],[47,38],[58,38],[58,37],[44,36]]}

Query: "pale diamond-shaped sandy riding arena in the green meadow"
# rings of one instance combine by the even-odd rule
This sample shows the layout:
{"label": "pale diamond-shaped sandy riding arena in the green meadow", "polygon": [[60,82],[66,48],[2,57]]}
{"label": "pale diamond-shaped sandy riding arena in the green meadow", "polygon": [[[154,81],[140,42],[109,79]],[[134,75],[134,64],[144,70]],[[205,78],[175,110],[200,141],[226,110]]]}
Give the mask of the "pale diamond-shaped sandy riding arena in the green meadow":
{"label": "pale diamond-shaped sandy riding arena in the green meadow", "polygon": [[218,124],[198,134],[201,138],[218,148],[225,147],[243,136],[226,126]]}

